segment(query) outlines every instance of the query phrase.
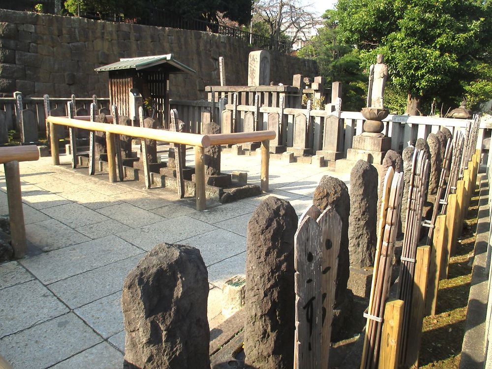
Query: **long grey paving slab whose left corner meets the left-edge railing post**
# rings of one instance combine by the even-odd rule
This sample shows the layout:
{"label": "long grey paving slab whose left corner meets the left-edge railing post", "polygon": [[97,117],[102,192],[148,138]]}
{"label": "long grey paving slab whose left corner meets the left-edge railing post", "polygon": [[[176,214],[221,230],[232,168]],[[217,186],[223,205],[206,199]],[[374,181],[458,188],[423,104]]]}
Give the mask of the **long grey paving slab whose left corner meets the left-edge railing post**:
{"label": "long grey paving slab whose left corner meets the left-edge railing post", "polygon": [[27,257],[20,263],[49,284],[140,253],[140,248],[111,235]]}

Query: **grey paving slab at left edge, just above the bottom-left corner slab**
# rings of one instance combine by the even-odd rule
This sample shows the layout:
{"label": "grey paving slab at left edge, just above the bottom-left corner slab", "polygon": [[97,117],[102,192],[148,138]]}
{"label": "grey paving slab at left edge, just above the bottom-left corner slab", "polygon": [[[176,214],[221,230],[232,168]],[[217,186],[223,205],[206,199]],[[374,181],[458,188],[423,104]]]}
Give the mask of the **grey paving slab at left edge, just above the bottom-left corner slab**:
{"label": "grey paving slab at left edge, just above the bottom-left corner slab", "polygon": [[0,301],[0,337],[22,331],[69,311],[37,280],[0,290]]}

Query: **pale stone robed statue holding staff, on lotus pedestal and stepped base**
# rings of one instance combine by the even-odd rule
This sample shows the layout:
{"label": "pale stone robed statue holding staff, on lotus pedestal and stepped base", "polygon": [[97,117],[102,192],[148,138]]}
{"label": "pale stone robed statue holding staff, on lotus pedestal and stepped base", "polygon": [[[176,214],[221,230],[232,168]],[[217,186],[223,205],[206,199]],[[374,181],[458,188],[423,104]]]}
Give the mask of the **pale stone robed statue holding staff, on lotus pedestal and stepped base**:
{"label": "pale stone robed statue holding staff, on lotus pedestal and stepped base", "polygon": [[373,164],[381,164],[384,155],[391,147],[391,138],[382,132],[382,120],[389,114],[384,108],[384,88],[388,79],[388,66],[383,63],[383,55],[370,67],[367,107],[362,109],[366,119],[364,132],[353,138],[352,149],[347,151],[347,160],[363,159]]}

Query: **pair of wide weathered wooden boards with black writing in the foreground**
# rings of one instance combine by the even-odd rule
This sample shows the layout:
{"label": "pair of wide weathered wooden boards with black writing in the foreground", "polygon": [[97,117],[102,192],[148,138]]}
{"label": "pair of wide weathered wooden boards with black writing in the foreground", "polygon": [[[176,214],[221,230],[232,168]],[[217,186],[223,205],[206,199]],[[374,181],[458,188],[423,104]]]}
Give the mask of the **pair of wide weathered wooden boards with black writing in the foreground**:
{"label": "pair of wide weathered wooden boards with black writing in the foreground", "polygon": [[294,236],[296,334],[294,368],[328,368],[341,220],[311,205]]}

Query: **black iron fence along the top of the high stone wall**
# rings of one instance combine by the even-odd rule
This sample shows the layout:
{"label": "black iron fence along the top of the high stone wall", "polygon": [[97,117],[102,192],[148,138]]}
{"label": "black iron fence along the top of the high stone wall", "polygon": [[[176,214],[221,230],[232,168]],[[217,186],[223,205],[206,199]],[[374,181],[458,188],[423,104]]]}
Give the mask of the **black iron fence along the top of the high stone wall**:
{"label": "black iron fence along the top of the high stone wall", "polygon": [[[2,8],[11,10],[27,10],[34,11],[35,4],[42,4],[42,11],[44,13],[54,14],[61,13],[56,11],[57,7],[62,4],[61,0],[20,0],[7,1],[7,4],[2,4]],[[58,4],[58,5],[57,5]],[[95,20],[104,20],[110,22],[122,22],[122,23],[135,23],[145,26],[156,26],[156,27],[167,27],[175,28],[180,30],[190,30],[190,31],[205,31],[217,34],[223,34],[226,36],[231,36],[239,38],[242,41],[250,44],[254,47],[259,47],[266,50],[278,51],[282,54],[290,54],[291,44],[287,41],[274,40],[272,37],[265,37],[260,34],[250,33],[248,31],[243,31],[238,28],[224,26],[215,22],[208,22],[205,20],[185,18],[181,15],[167,12],[162,9],[157,8],[147,8],[143,12],[143,15],[139,18],[128,19],[122,14],[116,13],[99,13],[99,12],[84,12],[79,13],[81,17],[90,18]]]}

